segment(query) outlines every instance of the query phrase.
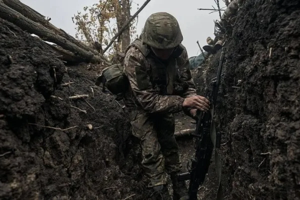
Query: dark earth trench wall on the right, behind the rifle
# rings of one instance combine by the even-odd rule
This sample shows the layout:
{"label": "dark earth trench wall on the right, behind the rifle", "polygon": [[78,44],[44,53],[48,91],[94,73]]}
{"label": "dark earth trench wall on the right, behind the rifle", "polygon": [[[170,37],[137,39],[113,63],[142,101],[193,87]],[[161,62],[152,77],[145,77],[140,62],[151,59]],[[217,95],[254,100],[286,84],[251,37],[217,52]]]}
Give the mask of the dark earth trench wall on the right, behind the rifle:
{"label": "dark earth trench wall on the right, behind the rifle", "polygon": [[[247,0],[232,28],[216,109],[225,195],[299,199],[300,2]],[[214,78],[218,58],[198,85]]]}

